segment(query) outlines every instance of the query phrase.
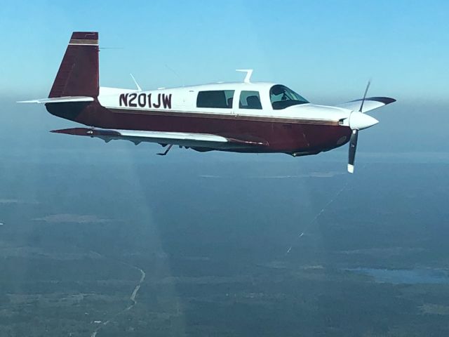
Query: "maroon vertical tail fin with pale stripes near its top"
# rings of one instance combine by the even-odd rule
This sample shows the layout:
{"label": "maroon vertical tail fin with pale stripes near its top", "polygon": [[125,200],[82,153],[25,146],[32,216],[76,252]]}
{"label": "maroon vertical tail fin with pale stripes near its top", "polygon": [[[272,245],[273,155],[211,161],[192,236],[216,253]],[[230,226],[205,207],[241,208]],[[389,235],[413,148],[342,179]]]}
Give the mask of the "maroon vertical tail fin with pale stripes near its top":
{"label": "maroon vertical tail fin with pale stripes near its top", "polygon": [[98,32],[73,32],[48,98],[97,98],[98,52]]}

